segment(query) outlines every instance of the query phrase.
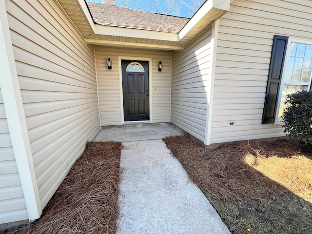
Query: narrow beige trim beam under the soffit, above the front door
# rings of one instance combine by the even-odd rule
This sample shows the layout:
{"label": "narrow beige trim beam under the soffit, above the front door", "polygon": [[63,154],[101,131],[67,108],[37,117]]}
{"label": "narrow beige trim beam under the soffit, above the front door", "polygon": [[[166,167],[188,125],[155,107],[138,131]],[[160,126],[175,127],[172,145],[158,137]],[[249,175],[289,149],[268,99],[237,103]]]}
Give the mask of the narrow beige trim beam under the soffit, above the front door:
{"label": "narrow beige trim beam under the soffit, above the front door", "polygon": [[182,46],[171,46],[171,45],[157,45],[157,44],[144,44],[135,42],[122,42],[122,41],[112,41],[112,40],[98,40],[98,39],[84,39],[87,44],[95,45],[106,45],[106,46],[116,46],[116,47],[131,47],[131,48],[145,48],[145,49],[162,49],[162,50],[176,50],[182,51]]}

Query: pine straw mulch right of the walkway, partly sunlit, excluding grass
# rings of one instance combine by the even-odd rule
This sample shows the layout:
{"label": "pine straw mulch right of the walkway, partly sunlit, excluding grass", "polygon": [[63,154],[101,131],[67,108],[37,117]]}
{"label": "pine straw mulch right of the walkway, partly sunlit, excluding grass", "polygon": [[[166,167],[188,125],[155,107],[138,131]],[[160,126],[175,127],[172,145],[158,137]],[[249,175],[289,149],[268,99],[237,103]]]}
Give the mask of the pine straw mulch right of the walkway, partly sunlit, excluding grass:
{"label": "pine straw mulch right of the walkway, partly sunlit, excluding grass", "polygon": [[[291,140],[241,141],[216,150],[204,149],[187,136],[167,137],[164,142],[195,184],[220,199],[259,200],[288,190],[312,195],[311,149]],[[287,166],[280,167],[286,160]],[[273,181],[276,178],[279,183]]]}

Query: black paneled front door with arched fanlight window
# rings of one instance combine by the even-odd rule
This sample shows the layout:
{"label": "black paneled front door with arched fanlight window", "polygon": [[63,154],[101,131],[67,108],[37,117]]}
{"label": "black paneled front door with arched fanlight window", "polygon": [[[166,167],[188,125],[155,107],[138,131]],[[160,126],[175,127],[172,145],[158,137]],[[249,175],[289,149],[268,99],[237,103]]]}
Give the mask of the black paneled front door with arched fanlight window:
{"label": "black paneled front door with arched fanlight window", "polygon": [[150,120],[148,61],[121,60],[124,121]]}

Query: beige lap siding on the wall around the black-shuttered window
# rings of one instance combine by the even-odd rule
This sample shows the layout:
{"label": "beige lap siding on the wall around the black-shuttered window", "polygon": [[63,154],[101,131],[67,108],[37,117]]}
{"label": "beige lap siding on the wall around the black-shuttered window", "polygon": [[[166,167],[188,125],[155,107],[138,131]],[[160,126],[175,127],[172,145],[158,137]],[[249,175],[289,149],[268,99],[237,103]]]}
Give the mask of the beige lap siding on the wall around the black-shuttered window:
{"label": "beige lap siding on the wall around the black-shuttered window", "polygon": [[273,36],[312,39],[312,1],[300,4],[234,0],[220,19],[211,143],[284,136],[261,119]]}

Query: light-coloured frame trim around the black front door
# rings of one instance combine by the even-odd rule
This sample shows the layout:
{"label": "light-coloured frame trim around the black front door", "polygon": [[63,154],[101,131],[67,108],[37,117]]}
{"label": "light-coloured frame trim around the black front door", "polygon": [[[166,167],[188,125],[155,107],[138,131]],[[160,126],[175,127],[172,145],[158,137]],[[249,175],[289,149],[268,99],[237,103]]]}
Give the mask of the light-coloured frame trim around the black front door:
{"label": "light-coloured frame trim around the black front door", "polygon": [[[138,61],[148,61],[148,78],[149,78],[149,112],[150,112],[150,123],[153,123],[153,106],[152,106],[152,62],[153,59],[150,57],[132,57],[132,56],[118,56],[118,73],[119,73],[119,94],[120,94],[120,115],[121,115],[121,125],[127,123],[124,121],[123,116],[123,92],[122,92],[122,66],[121,60],[138,60]],[[148,120],[147,120],[148,121]],[[133,121],[131,121],[133,122]],[[140,121],[137,121],[138,123]],[[146,122],[146,121],[144,121]]]}

